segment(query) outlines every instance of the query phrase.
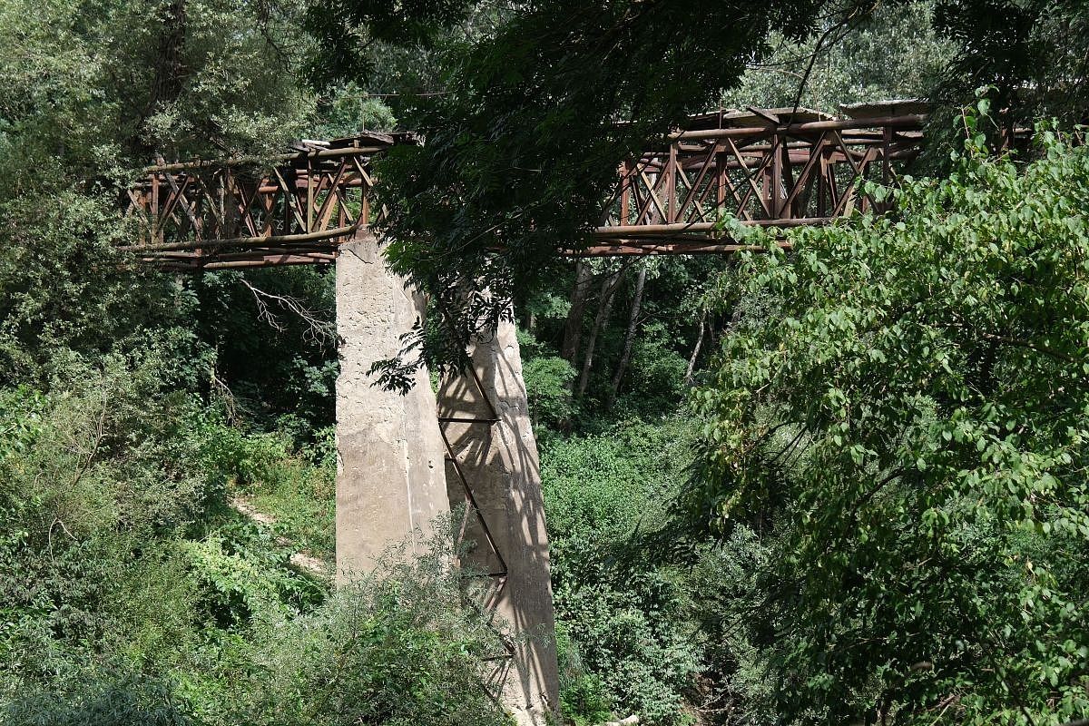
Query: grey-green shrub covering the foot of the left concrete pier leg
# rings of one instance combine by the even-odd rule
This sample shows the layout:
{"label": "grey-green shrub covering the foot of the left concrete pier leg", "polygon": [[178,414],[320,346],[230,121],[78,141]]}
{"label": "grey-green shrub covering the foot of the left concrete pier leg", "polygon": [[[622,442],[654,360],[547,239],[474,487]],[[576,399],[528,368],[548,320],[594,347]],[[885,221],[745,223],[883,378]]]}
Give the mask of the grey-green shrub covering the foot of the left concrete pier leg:
{"label": "grey-green shrub covering the foot of the left concrete pier leg", "polygon": [[252,726],[509,726],[484,687],[501,643],[465,607],[450,550],[389,555],[309,615],[257,633],[256,678],[236,697]]}

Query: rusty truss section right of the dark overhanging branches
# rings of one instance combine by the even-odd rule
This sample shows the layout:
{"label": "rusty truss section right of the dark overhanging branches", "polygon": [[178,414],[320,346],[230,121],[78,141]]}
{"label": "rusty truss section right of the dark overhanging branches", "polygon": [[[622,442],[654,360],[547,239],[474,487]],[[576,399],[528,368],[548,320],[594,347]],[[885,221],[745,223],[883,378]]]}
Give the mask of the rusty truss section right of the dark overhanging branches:
{"label": "rusty truss section right of the dark overhanging branches", "polygon": [[[752,125],[754,116],[763,123]],[[678,132],[621,167],[598,244],[584,254],[729,251],[735,245],[723,238],[723,217],[794,226],[869,210],[878,202],[861,193],[861,183],[893,183],[918,156],[925,120],[902,114],[782,124],[754,111],[743,125],[727,120]]]}

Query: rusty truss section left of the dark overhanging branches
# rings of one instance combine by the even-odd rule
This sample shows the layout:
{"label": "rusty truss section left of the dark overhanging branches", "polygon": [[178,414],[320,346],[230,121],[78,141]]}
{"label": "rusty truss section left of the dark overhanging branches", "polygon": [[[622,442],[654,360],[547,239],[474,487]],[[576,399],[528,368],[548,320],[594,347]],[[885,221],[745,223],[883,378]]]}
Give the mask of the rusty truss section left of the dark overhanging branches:
{"label": "rusty truss section left of the dark overhanging branches", "polygon": [[144,230],[127,249],[166,269],[329,262],[358,226],[381,223],[370,159],[394,143],[369,134],[272,159],[148,167],[127,190]]}

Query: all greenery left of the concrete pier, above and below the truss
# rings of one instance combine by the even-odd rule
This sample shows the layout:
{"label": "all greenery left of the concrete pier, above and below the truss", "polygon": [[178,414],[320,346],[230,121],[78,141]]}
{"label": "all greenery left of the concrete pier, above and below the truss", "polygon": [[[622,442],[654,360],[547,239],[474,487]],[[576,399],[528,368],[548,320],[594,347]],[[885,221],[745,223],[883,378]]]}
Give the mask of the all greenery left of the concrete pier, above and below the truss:
{"label": "all greenery left of the concrete pier, above and below the truss", "polygon": [[0,722],[506,723],[449,553],[331,592],[331,275],[115,249],[158,157],[392,123],[295,10],[0,4]]}

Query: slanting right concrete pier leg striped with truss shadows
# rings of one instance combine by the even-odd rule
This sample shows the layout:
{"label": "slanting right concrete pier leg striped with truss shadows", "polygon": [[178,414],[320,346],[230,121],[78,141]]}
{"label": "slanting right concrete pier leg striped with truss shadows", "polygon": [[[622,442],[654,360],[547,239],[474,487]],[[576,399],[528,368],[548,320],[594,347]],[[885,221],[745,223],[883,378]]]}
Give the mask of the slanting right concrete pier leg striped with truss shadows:
{"label": "slanting right concrete pier leg striped with truss shadows", "polygon": [[451,504],[465,503],[462,564],[478,570],[473,593],[509,635],[494,691],[522,725],[543,726],[559,706],[555,622],[537,442],[515,327],[475,343],[469,374],[439,386],[450,446]]}

